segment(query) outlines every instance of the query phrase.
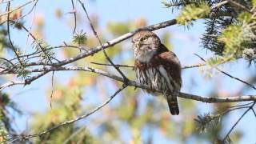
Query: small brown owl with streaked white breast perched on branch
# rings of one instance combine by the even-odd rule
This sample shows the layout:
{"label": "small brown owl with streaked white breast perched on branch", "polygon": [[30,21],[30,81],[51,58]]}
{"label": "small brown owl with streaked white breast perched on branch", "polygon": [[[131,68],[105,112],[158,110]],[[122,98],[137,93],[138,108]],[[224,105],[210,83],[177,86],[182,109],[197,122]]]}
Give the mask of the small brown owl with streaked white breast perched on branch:
{"label": "small brown owl with streaked white breast perched on branch", "polygon": [[168,102],[170,113],[178,115],[177,96],[182,86],[181,64],[177,56],[164,46],[156,34],[138,31],[132,38],[134,70],[138,82],[150,87],[154,93],[161,90]]}

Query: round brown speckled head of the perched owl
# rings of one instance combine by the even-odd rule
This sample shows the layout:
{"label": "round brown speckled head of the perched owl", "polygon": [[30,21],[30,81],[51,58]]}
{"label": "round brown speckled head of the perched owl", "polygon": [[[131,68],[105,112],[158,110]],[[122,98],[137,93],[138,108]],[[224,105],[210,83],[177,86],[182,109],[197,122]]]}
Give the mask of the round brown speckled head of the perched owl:
{"label": "round brown speckled head of the perched owl", "polygon": [[140,62],[149,62],[161,46],[158,36],[149,30],[138,31],[131,42],[134,47],[134,57]]}

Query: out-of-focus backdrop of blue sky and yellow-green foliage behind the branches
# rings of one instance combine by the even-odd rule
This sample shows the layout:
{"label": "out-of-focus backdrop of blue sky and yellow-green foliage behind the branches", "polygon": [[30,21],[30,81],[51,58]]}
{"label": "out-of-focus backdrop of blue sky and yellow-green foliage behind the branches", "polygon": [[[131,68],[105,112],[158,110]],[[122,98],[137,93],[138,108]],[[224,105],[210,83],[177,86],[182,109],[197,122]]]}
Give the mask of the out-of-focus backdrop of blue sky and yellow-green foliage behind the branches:
{"label": "out-of-focus backdrop of blue sky and yellow-green foliage behind the branches", "polygon": [[[11,7],[20,6],[24,2],[13,1]],[[85,1],[86,9],[103,42],[117,38],[138,27],[149,26],[175,18],[178,11],[166,8],[162,2],[153,0],[91,0]],[[31,10],[25,6],[14,14],[24,15]],[[98,46],[98,41],[90,30],[86,14],[78,2],[76,34],[86,32],[86,49]],[[0,6],[4,13],[6,3]],[[74,14],[71,1],[38,1],[34,11],[20,21],[31,28],[36,38],[42,38],[50,46],[61,46],[63,42],[74,43]],[[11,15],[10,15],[11,16]],[[20,17],[20,16],[18,16]],[[6,25],[0,26],[1,30]],[[202,47],[201,39],[205,31],[202,20],[193,26],[169,26],[155,30],[162,42],[173,50],[182,62],[182,66],[203,63],[194,54],[207,59],[214,54]],[[1,32],[0,32],[1,33]],[[14,45],[23,53],[30,54],[32,38],[27,33],[10,27],[10,35]],[[0,43],[1,45],[1,43]],[[1,55],[12,58],[10,50],[1,47]],[[115,64],[134,65],[130,39],[106,50]],[[56,58],[63,60],[74,57],[79,50],[71,48],[54,49]],[[82,58],[72,63],[74,66],[91,66],[117,74],[111,66],[98,66],[91,62],[108,63],[102,52]],[[255,82],[255,66],[238,59],[220,66],[229,74],[247,82]],[[121,68],[131,80],[135,80],[132,68]],[[207,97],[227,97],[232,95],[255,94],[253,90],[226,75],[211,69],[209,66],[182,70],[182,92]],[[17,80],[14,74],[2,75],[3,84]],[[114,94],[121,82],[82,71],[56,71],[52,86],[52,74],[32,82],[29,86],[11,86],[2,91],[10,98],[12,105],[6,106],[5,116],[9,118],[10,128],[15,134],[34,134],[49,129],[58,123],[86,114],[94,107]],[[50,107],[50,95],[53,90]],[[171,116],[164,98],[154,97],[143,90],[128,87],[118,94],[102,110],[90,117],[54,130],[42,138],[30,138],[33,143],[213,143],[225,134],[237,122],[245,110],[235,110],[226,114],[216,125],[200,133],[194,121],[198,115],[218,114],[229,106],[239,103],[209,104],[190,99],[178,98],[180,114]],[[247,102],[245,102],[247,103]],[[234,143],[255,143],[256,125],[252,112],[246,114],[238,123],[230,138]],[[7,130],[8,131],[8,130]],[[7,132],[8,133],[8,132]]]}

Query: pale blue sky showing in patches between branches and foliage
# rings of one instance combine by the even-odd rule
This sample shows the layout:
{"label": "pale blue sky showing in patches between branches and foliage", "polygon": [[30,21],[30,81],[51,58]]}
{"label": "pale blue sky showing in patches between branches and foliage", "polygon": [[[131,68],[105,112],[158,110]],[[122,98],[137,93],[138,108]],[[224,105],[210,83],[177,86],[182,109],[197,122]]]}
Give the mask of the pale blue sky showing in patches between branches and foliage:
{"label": "pale blue sky showing in patches between branches and foliage", "polygon": [[[96,0],[96,1],[85,1],[86,8],[90,15],[97,15],[100,19],[99,27],[104,30],[108,22],[128,22],[129,20],[135,20],[138,18],[145,18],[149,25],[158,22],[163,22],[166,20],[173,19],[177,16],[177,13],[172,13],[170,9],[164,8],[161,1],[158,0]],[[42,15],[42,18],[46,20],[44,35],[46,35],[46,41],[52,46],[61,45],[62,42],[70,42],[72,38],[72,29],[70,26],[66,25],[67,19],[72,17],[68,14],[70,12],[70,1],[54,0],[54,1],[42,1],[39,0],[38,6],[36,8],[36,13]],[[56,8],[62,9],[64,12],[64,18],[61,20],[56,19],[54,15],[54,10]],[[30,18],[33,18],[33,14],[30,14]],[[82,18],[85,20],[86,18]],[[26,25],[30,26],[31,22],[26,22]],[[58,24],[58,26],[56,26]],[[80,25],[79,29],[87,29],[88,26]],[[157,34],[162,34],[163,32],[170,31],[171,38],[170,42],[174,46],[174,52],[180,58],[183,66],[195,64],[200,62],[194,53],[202,55],[204,58],[210,58],[212,54],[208,50],[202,48],[200,45],[200,37],[205,30],[203,22],[195,22],[194,26],[187,30],[184,26],[169,26],[162,30],[156,30]],[[90,31],[90,30],[88,30]],[[107,31],[106,31],[107,32]],[[19,39],[20,35],[12,35],[13,38]],[[21,46],[26,46],[24,40],[18,42]],[[223,70],[228,70],[230,74],[238,78],[249,78],[250,74],[254,73],[255,68],[251,66],[248,68],[246,62],[243,60],[238,60],[234,62],[233,65],[222,66]],[[215,72],[216,73],[216,72]],[[214,73],[214,74],[215,74]],[[63,74],[63,73],[60,73]],[[69,74],[65,75],[66,77]],[[223,74],[214,75],[215,78],[209,79],[205,77],[202,69],[191,69],[183,70],[183,87],[182,91],[186,93],[198,94],[206,96],[212,90],[213,84],[218,82],[222,83],[217,88],[218,91],[230,94],[236,94],[237,90],[242,87],[242,83],[235,81],[234,79],[227,78]],[[194,78],[197,80],[196,86],[191,86],[192,82],[186,81],[186,79]],[[184,80],[185,79],[185,80]],[[58,81],[62,81],[62,78],[58,78]],[[65,82],[65,81],[63,81]],[[33,82],[30,86],[13,86],[7,88],[6,92],[12,95],[12,99],[18,102],[18,105],[22,107],[22,110],[29,111],[30,113],[43,112],[49,108],[49,102],[45,98],[45,91],[48,90],[50,86],[50,74],[47,74],[44,78],[39,78],[37,81]],[[25,92],[26,91],[26,92]],[[255,94],[252,90],[247,90],[244,94]],[[93,95],[93,91],[91,91]],[[207,107],[206,104],[202,102],[197,102],[198,105],[202,107]],[[207,112],[207,109],[199,110],[200,112]],[[241,112],[234,112],[230,118],[226,120],[226,124],[234,123],[237,118],[241,115]],[[245,134],[242,137],[240,143],[253,143],[256,142],[254,135],[256,134],[255,118],[253,114],[247,114],[245,118],[238,124],[235,128],[237,130],[242,130]],[[20,124],[21,131],[26,129],[26,117],[18,120]],[[230,125],[231,126],[231,125]],[[223,132],[226,134],[227,130]],[[155,140],[160,139],[162,143],[168,143],[166,139],[162,138],[160,134],[154,134]]]}

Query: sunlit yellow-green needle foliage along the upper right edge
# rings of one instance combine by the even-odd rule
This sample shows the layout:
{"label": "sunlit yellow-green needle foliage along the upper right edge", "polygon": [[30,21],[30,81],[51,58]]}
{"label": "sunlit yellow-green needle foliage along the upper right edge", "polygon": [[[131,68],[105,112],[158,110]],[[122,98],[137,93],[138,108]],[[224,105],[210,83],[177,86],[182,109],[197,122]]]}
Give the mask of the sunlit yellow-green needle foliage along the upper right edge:
{"label": "sunlit yellow-green needle foliage along the upper right edge", "polygon": [[[222,56],[211,58],[207,63],[210,66],[218,66],[224,62],[234,61],[236,58],[242,56],[243,50],[254,47],[254,43],[250,43],[251,36],[253,37],[253,27],[255,18],[252,14],[241,13],[238,15],[236,23],[226,26],[222,30],[222,34],[217,37],[218,42],[222,43]],[[253,58],[253,57],[252,57]]]}

